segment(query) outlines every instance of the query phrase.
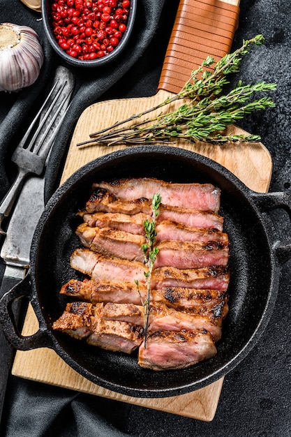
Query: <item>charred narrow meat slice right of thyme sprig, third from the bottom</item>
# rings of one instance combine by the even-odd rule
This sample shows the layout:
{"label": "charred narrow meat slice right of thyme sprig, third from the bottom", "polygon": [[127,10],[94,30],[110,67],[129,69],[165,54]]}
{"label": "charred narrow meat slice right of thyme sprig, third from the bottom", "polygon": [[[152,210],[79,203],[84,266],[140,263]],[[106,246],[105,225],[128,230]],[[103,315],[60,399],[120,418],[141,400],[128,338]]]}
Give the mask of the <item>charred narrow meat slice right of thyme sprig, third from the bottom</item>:
{"label": "charred narrow meat slice right of thyme sprig, third from the bottom", "polygon": [[154,302],[165,304],[169,308],[187,313],[218,314],[223,311],[223,318],[228,311],[228,295],[220,290],[197,290],[195,288],[164,287],[161,290],[151,290]]}

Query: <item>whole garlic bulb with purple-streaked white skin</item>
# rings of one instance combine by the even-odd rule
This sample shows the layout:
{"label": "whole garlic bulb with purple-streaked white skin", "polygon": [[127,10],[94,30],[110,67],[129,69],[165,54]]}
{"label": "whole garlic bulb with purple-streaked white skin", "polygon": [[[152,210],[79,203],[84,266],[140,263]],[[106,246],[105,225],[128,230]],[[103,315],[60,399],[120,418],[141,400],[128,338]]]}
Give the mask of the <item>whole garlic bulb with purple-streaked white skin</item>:
{"label": "whole garlic bulb with purple-streaked white skin", "polygon": [[0,91],[19,91],[38,78],[43,48],[36,31],[17,24],[0,24]]}

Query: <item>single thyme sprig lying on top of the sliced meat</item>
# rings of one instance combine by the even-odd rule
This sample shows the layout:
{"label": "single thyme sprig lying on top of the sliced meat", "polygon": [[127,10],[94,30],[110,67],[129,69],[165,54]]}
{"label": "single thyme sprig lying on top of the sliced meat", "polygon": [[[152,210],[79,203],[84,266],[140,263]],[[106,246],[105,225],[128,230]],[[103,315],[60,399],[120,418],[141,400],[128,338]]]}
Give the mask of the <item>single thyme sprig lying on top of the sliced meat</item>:
{"label": "single thyme sprig lying on top of the sliced meat", "polygon": [[[144,254],[144,265],[147,266],[147,271],[144,272],[144,276],[147,284],[147,297],[142,300],[142,296],[140,294],[140,298],[142,300],[142,305],[144,306],[144,348],[147,347],[147,332],[149,327],[149,304],[151,300],[151,273],[153,271],[154,262],[158,255],[158,247],[155,246],[156,242],[156,217],[159,214],[159,207],[161,205],[161,194],[154,194],[151,200],[151,209],[152,216],[151,221],[144,221],[144,232],[147,239],[147,242],[142,244],[142,253]],[[139,290],[139,283],[135,280],[135,284],[137,286],[137,291]]]}

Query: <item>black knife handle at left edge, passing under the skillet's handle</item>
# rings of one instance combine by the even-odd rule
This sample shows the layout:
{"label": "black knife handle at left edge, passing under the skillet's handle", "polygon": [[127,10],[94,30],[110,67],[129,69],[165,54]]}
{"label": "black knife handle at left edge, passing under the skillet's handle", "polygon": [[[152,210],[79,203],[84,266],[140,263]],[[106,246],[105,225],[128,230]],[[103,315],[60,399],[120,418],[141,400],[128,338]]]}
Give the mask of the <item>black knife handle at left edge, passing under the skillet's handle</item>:
{"label": "black knife handle at left edge, passing under the skillet's handle", "polygon": [[[0,297],[2,297],[8,290],[13,288],[17,285],[17,283],[20,282],[20,279],[17,278],[10,278],[8,276],[3,276],[1,288],[0,288]],[[20,302],[15,302],[16,305],[13,308],[13,316],[15,318],[15,321],[17,325],[19,326],[19,318],[20,318]],[[3,334],[3,330],[0,327],[0,344],[1,344],[1,354],[0,354],[0,422],[1,422],[1,416],[3,412],[3,404],[5,399],[5,393],[6,393],[6,385],[8,376],[10,373],[10,369],[13,363],[15,350],[13,349],[13,346],[11,346],[8,341],[6,340],[6,337]]]}

